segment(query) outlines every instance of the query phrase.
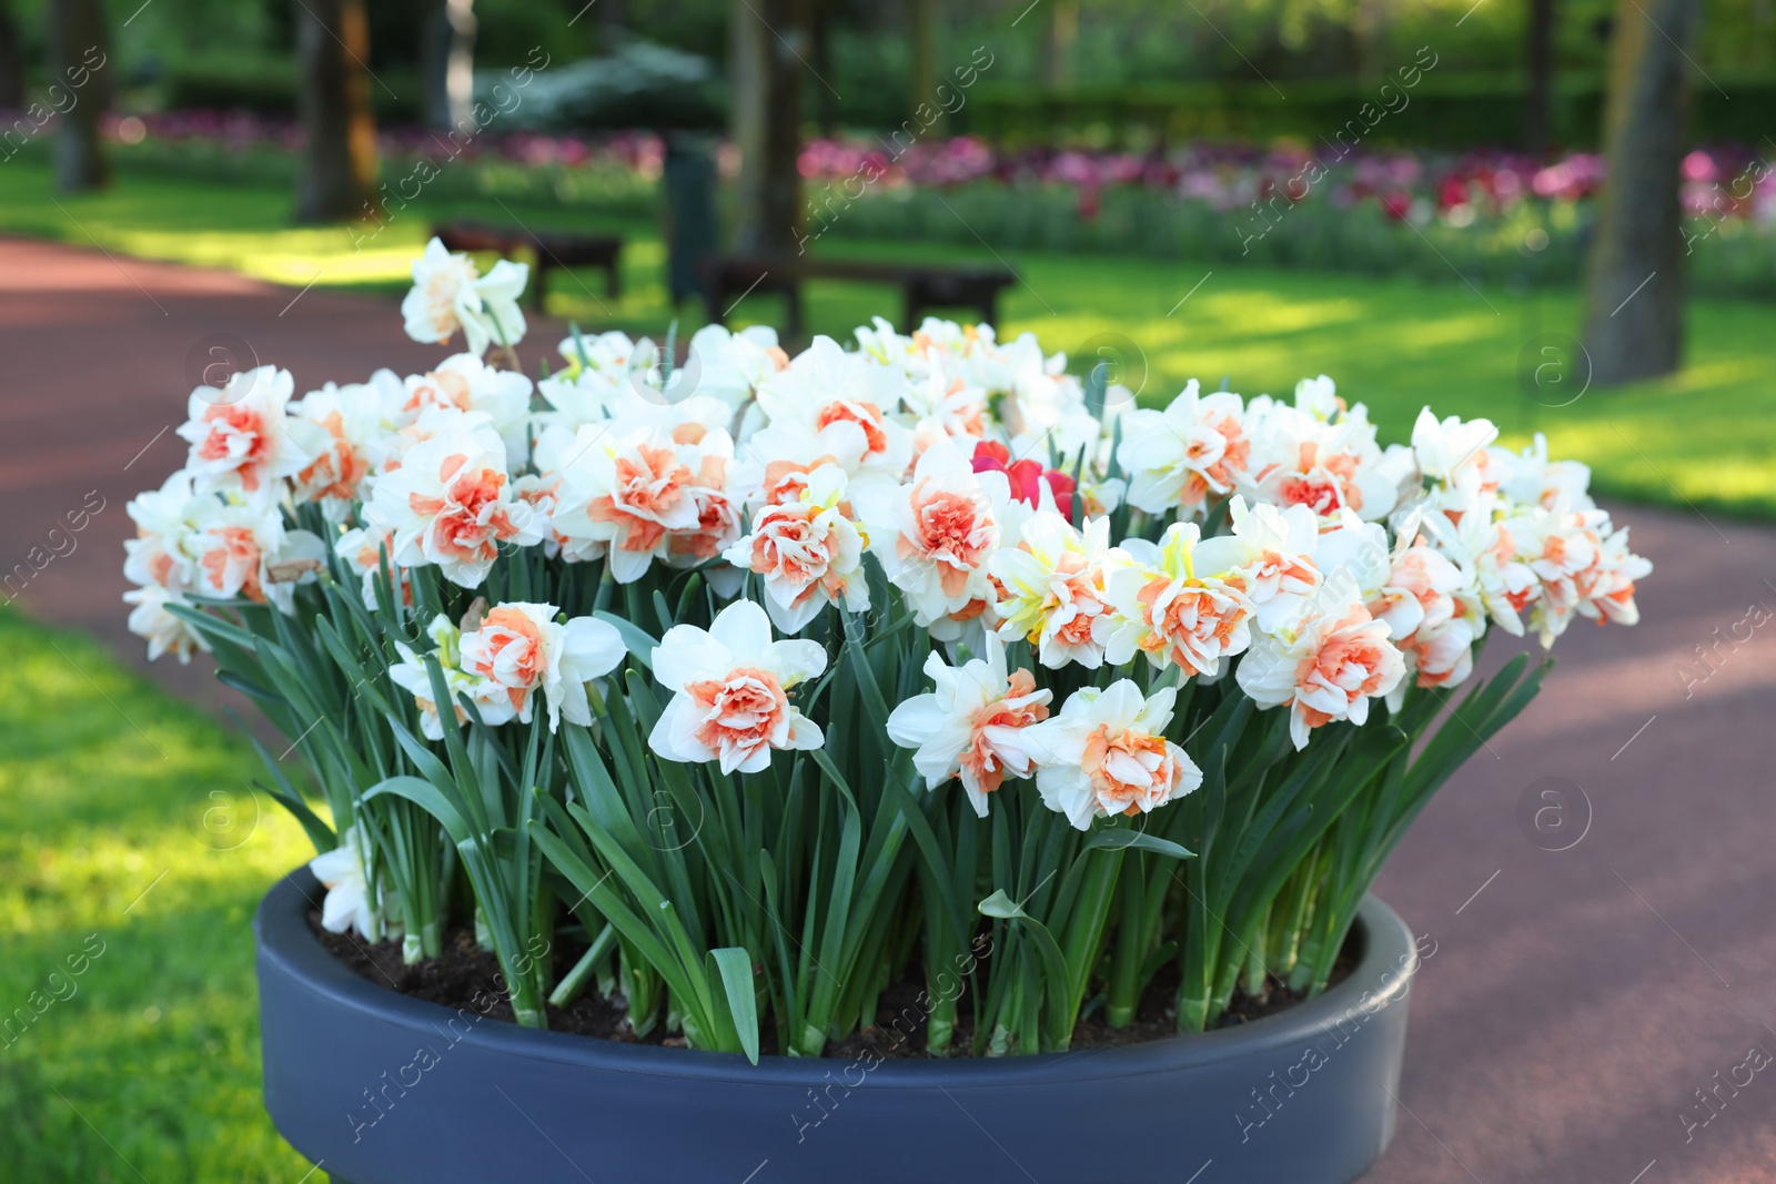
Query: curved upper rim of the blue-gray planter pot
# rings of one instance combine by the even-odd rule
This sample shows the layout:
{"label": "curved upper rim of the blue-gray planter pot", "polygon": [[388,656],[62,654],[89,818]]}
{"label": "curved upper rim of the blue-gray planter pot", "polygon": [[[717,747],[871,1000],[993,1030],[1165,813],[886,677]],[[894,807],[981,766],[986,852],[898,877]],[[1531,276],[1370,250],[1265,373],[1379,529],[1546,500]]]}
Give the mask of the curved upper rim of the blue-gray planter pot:
{"label": "curved upper rim of the blue-gray planter pot", "polygon": [[[259,902],[252,918],[259,959],[298,980],[316,996],[336,1006],[362,1012],[366,1017],[417,1028],[442,1024],[458,1014],[444,1005],[380,987],[339,962],[309,928],[307,912],[311,907],[320,907],[320,884],[305,866],[279,880]],[[1069,1053],[883,1060],[868,1070],[870,1081],[879,1088],[911,1090],[931,1090],[940,1085],[966,1085],[979,1090],[995,1085],[1090,1081],[1211,1065],[1261,1049],[1311,1042],[1334,1024],[1362,1021],[1401,1003],[1410,989],[1419,959],[1412,932],[1399,914],[1375,896],[1366,896],[1357,911],[1353,932],[1360,937],[1360,953],[1352,973],[1318,998],[1275,1015],[1215,1031]],[[694,1081],[819,1083],[833,1067],[863,1060],[861,1056],[851,1060],[760,1056],[758,1065],[751,1065],[739,1053],[622,1044],[510,1022],[476,1024],[460,1040],[465,1046],[497,1049],[506,1056],[536,1062]]]}

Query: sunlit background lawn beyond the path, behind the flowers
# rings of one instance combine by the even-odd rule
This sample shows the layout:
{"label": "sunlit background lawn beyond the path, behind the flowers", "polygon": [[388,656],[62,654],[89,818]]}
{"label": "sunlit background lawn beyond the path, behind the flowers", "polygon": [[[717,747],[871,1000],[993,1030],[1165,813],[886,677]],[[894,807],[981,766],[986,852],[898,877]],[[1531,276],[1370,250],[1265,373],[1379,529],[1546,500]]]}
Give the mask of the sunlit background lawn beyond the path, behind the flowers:
{"label": "sunlit background lawn beyond the path, behind the flowers", "polygon": [[[73,243],[103,243],[149,257],[227,266],[293,286],[359,288],[396,295],[442,217],[522,222],[531,227],[620,231],[625,295],[606,305],[602,277],[574,273],[552,282],[549,311],[584,328],[623,328],[655,337],[673,311],[661,277],[664,249],[646,222],[567,209],[424,199],[400,211],[361,250],[343,227],[291,229],[289,195],[222,188],[160,176],[124,176],[107,193],[50,197],[48,174],[30,162],[0,169],[0,229]],[[1703,247],[1707,249],[1707,245]],[[987,245],[847,243],[833,256],[987,259]],[[1570,335],[1579,320],[1575,291],[1476,293],[1455,275],[1447,284],[1268,272],[1218,264],[1158,263],[1019,252],[1023,282],[1009,291],[1002,332],[1035,330],[1050,350],[1076,359],[1103,355],[1140,385],[1144,401],[1163,401],[1190,378],[1208,387],[1229,380],[1243,394],[1286,392],[1304,375],[1328,373],[1348,398],[1369,405],[1385,438],[1403,438],[1419,407],[1488,415],[1520,444],[1549,433],[1552,449],[1586,460],[1597,486],[1621,497],[1756,517],[1776,515],[1776,307],[1698,300],[1689,311],[1689,364],[1675,378],[1613,391],[1591,389],[1559,407],[1577,382],[1563,353],[1543,355],[1543,335]],[[1188,298],[1185,298],[1188,293]],[[849,337],[870,314],[895,314],[886,288],[815,282],[806,293],[815,332]],[[735,320],[771,321],[774,298],[744,302]],[[391,316],[394,311],[391,309]],[[680,328],[702,321],[680,309]],[[1570,351],[1568,351],[1570,353]],[[535,353],[531,355],[535,357]],[[1545,378],[1568,375],[1529,398],[1524,375],[1542,362]],[[1078,366],[1076,366],[1078,369]],[[355,378],[337,375],[336,378]]]}

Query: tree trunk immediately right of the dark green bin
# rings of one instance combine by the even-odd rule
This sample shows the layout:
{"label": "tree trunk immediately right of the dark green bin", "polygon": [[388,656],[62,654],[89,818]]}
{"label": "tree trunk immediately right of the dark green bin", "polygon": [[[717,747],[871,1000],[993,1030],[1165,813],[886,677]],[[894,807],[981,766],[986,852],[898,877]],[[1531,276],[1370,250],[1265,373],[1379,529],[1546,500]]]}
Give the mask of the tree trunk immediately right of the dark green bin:
{"label": "tree trunk immediately right of the dark green bin", "polygon": [[801,89],[806,44],[797,0],[735,0],[733,142],[741,149],[733,243],[792,252],[801,225]]}

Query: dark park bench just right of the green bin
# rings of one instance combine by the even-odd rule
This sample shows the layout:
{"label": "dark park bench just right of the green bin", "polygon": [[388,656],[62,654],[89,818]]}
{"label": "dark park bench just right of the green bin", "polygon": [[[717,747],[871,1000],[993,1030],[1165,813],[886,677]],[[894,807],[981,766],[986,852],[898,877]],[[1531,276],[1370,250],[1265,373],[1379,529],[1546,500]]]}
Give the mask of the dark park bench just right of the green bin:
{"label": "dark park bench just right of the green bin", "polygon": [[712,323],[723,323],[742,296],[781,293],[789,302],[785,335],[799,339],[801,284],[838,279],[890,284],[902,295],[902,330],[918,328],[931,309],[973,309],[980,321],[998,320],[998,293],[1018,282],[1009,268],[931,263],[856,263],[806,256],[716,256],[703,264],[703,300]]}

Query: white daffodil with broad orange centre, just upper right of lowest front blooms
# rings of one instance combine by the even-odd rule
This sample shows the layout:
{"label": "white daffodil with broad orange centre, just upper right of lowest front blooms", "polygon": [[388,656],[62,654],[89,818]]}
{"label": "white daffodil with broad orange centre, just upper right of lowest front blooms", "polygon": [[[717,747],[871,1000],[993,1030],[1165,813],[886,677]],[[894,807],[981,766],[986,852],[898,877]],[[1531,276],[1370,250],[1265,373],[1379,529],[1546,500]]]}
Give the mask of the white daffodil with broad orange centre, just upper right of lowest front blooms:
{"label": "white daffodil with broad orange centre, just upper right of lowest front blooms", "polygon": [[1369,699],[1387,696],[1407,673],[1387,623],[1369,616],[1355,595],[1327,595],[1316,614],[1259,637],[1234,678],[1259,706],[1289,708],[1289,738],[1307,747],[1314,728],[1369,719]]}

